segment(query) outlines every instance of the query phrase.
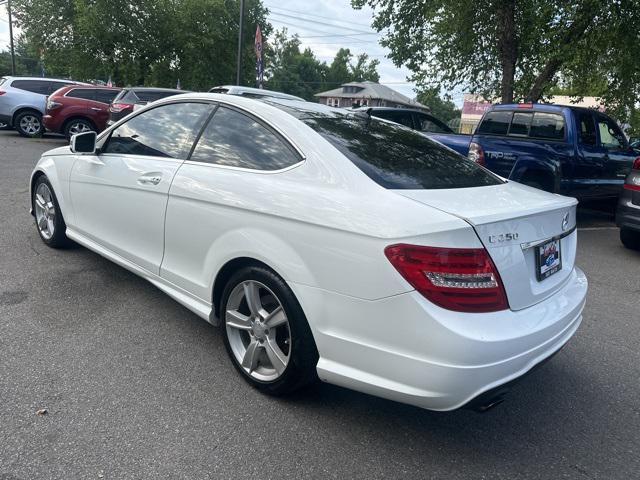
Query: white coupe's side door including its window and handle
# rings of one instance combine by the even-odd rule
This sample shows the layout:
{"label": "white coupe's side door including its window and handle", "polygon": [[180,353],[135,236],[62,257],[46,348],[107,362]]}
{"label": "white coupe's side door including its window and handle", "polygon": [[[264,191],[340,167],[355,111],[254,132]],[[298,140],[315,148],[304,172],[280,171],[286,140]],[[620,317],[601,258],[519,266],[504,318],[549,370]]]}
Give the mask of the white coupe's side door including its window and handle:
{"label": "white coupe's side door including its window and handle", "polygon": [[142,111],[101,140],[96,155],[78,155],[73,230],[157,274],[169,187],[212,109],[176,102]]}

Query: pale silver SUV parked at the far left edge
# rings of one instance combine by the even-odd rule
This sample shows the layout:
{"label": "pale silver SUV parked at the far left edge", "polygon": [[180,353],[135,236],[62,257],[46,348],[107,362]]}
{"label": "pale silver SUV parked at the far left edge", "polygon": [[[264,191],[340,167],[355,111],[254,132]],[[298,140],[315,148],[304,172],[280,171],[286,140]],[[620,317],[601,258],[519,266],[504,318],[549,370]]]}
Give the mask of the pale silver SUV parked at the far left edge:
{"label": "pale silver SUV parked at the far left edge", "polygon": [[67,85],[88,84],[57,78],[2,77],[0,123],[14,128],[24,137],[42,135],[47,96]]}

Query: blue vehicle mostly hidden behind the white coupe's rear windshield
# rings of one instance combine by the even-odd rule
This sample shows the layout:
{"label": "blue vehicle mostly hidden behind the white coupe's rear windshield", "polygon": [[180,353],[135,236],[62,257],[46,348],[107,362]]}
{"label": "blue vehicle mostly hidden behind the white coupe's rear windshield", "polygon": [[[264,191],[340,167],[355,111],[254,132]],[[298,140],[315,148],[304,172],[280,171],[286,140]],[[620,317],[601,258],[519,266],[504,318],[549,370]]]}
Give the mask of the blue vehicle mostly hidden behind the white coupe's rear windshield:
{"label": "blue vehicle mostly hidden behind the white coupe's rear windshield", "polygon": [[461,155],[469,153],[471,135],[455,133],[445,123],[423,110],[393,107],[358,107],[357,112],[367,112],[377,118],[384,118],[422,132],[427,137],[446,145]]}

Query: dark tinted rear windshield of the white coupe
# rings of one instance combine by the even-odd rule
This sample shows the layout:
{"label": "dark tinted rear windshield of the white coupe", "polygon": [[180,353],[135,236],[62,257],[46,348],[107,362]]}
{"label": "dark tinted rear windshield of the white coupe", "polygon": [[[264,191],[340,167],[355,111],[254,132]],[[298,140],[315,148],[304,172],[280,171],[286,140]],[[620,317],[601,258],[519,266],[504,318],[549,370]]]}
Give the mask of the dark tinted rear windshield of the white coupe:
{"label": "dark tinted rear windshield of the white coupe", "polygon": [[364,113],[299,118],[385,188],[467,188],[502,183],[488,170],[420,133]]}

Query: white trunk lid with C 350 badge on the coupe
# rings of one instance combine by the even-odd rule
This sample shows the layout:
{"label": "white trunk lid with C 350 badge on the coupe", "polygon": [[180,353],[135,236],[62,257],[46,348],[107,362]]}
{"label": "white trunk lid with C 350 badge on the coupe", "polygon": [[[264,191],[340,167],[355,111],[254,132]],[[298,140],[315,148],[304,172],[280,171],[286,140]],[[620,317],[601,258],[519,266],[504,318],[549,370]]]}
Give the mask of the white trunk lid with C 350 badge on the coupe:
{"label": "white trunk lid with C 350 badge on the coupe", "polygon": [[[515,182],[395,192],[455,215],[475,229],[498,268],[512,310],[521,310],[549,297],[562,287],[573,270],[577,238],[577,201],[573,198]],[[550,262],[539,265],[539,250],[545,245]],[[559,255],[554,256],[553,249],[558,245]],[[558,262],[554,259],[558,257],[560,268],[549,275],[557,269]],[[542,276],[537,272],[542,272]]]}

